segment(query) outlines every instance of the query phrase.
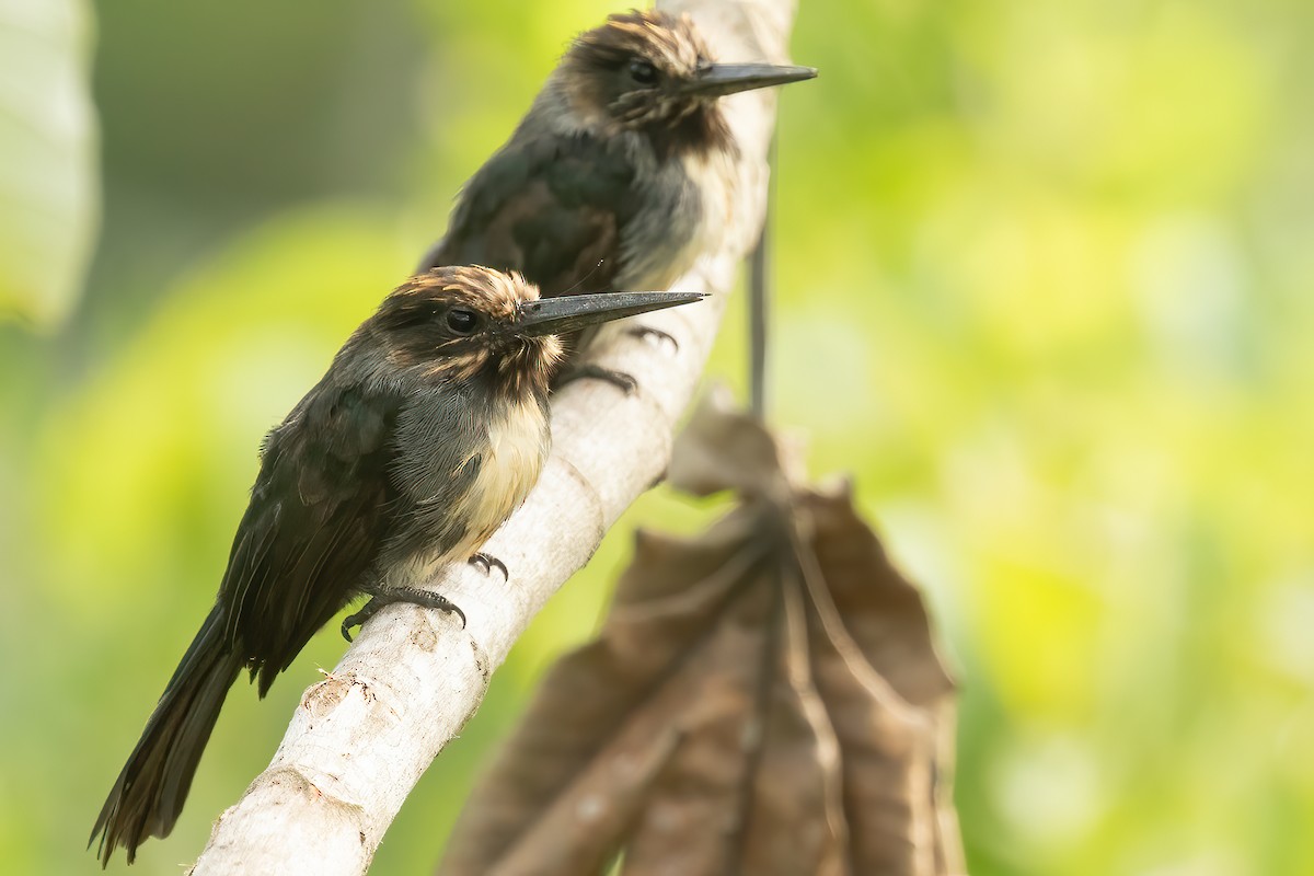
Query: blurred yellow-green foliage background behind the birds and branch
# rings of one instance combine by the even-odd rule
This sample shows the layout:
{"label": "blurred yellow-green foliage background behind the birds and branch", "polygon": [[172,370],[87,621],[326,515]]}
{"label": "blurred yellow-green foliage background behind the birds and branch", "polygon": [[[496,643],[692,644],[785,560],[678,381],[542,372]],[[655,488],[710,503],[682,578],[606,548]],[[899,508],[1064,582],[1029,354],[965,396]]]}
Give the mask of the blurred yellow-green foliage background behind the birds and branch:
{"label": "blurred yellow-green foliage background behind the birds and branch", "polygon": [[[442,232],[600,0],[0,1],[0,862],[84,838],[205,615],[255,449]],[[962,680],[979,876],[1314,872],[1314,5],[808,0],[774,419],[850,471]],[[742,390],[742,320],[710,374]],[[389,831],[424,872],[629,531]],[[134,872],[265,766],[238,686]],[[112,867],[121,872],[121,858]]]}

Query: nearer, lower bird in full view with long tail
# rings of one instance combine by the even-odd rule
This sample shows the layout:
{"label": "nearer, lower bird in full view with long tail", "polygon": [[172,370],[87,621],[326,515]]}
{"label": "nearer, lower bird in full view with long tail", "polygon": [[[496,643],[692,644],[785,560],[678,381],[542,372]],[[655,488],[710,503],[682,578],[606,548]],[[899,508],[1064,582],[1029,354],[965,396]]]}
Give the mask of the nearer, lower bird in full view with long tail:
{"label": "nearer, lower bird in full view with long tail", "polygon": [[[444,267],[393,290],[265,437],[250,504],[210,609],[120,772],[97,855],[133,863],[172,830],[229,688],[259,695],[352,599],[464,613],[419,590],[476,553],[548,456],[557,335],[700,293],[541,299],[516,273]],[[501,565],[501,563],[497,563]],[[505,570],[505,566],[503,566]],[[344,629],[346,629],[344,624]]]}

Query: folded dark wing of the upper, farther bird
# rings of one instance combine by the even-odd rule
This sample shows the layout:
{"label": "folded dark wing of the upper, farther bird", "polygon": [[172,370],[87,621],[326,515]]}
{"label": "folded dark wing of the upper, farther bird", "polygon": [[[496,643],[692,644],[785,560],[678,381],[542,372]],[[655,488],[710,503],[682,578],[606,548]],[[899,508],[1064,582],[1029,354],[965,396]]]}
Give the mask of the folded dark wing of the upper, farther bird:
{"label": "folded dark wing of the upper, farther bird", "polygon": [[512,139],[466,183],[420,271],[519,271],[544,296],[611,289],[637,208],[633,181],[628,159],[591,137]]}

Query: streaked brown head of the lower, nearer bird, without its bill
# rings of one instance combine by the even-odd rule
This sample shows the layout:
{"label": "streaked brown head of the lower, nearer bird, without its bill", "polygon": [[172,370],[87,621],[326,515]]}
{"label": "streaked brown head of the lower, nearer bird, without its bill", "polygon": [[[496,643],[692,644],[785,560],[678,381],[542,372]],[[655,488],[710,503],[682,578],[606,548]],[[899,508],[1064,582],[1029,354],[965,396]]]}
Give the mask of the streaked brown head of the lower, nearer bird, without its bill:
{"label": "streaked brown head of the lower, nearer bird, without its bill", "polygon": [[398,286],[365,324],[399,368],[435,381],[486,377],[511,393],[545,393],[562,357],[552,335],[514,332],[539,288],[519,273],[480,265],[432,268]]}

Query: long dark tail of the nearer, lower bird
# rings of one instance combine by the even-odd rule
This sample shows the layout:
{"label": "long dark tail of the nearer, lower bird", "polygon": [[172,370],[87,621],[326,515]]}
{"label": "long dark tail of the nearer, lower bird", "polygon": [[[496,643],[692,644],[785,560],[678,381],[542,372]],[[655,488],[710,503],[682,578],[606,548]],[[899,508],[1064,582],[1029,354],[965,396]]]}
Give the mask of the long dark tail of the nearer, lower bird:
{"label": "long dark tail of the nearer, lower bird", "polygon": [[225,642],[223,617],[215,605],[205,619],[96,818],[87,844],[100,834],[102,864],[116,846],[126,848],[133,863],[137,847],[147,837],[167,837],[183,810],[223,697],[242,668],[242,658]]}

